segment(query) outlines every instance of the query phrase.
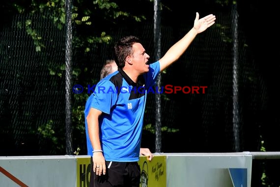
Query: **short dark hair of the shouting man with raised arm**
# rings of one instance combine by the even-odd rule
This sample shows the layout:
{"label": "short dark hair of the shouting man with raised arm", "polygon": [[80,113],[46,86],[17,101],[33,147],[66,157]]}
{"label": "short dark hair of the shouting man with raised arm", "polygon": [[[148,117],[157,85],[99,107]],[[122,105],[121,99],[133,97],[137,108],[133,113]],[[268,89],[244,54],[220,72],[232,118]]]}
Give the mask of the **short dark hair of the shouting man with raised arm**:
{"label": "short dark hair of the shouting man with raised arm", "polygon": [[133,54],[132,45],[134,43],[140,43],[140,39],[132,35],[125,36],[116,42],[113,55],[118,67],[123,68],[126,57]]}

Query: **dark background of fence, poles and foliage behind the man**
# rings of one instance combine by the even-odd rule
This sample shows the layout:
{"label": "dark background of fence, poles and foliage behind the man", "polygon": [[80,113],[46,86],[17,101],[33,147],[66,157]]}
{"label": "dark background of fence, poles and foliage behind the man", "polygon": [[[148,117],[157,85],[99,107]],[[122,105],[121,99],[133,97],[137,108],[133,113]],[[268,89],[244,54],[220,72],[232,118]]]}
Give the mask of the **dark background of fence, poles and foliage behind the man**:
{"label": "dark background of fence, poles and foliage behind the man", "polygon": [[[278,20],[252,0],[0,2],[0,156],[86,155],[84,105],[114,42],[140,37],[155,62],[200,18],[216,23],[161,73],[141,147],[153,153],[280,151]],[[81,85],[80,94],[73,90]],[[252,187],[279,187],[279,160],[253,160]]]}

